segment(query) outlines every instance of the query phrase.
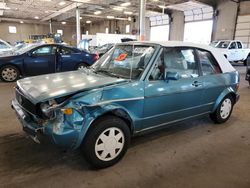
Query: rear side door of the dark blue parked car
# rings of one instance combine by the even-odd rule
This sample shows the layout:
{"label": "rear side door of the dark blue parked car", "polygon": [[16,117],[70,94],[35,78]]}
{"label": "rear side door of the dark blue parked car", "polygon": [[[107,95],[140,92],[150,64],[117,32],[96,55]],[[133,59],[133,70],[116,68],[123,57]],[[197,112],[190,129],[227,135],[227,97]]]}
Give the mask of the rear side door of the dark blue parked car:
{"label": "rear side door of the dark blue parked car", "polygon": [[57,71],[63,72],[76,70],[77,64],[81,61],[80,56],[80,52],[76,52],[71,48],[61,46],[58,57]]}

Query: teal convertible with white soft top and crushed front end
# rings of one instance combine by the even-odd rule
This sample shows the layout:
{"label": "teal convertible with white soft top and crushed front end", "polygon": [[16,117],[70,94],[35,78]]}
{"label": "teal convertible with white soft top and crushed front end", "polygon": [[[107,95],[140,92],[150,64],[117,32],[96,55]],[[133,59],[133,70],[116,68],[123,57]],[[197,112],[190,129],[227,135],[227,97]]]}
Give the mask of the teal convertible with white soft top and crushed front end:
{"label": "teal convertible with white soft top and crushed front end", "polygon": [[124,156],[131,136],[205,114],[226,122],[238,88],[238,72],[212,47],[129,42],[85,70],[17,81],[12,108],[34,141],[81,148],[104,168]]}

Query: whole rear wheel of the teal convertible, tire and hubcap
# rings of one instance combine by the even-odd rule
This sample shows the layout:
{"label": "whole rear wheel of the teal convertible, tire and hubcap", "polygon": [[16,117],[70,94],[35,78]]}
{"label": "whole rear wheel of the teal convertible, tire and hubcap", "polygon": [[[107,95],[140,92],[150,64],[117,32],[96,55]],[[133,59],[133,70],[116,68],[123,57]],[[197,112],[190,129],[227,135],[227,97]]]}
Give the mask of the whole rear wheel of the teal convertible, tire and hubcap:
{"label": "whole rear wheel of the teal convertible, tire and hubcap", "polygon": [[215,123],[224,123],[231,116],[234,106],[234,100],[231,95],[227,95],[221,101],[214,113],[210,114],[210,118]]}

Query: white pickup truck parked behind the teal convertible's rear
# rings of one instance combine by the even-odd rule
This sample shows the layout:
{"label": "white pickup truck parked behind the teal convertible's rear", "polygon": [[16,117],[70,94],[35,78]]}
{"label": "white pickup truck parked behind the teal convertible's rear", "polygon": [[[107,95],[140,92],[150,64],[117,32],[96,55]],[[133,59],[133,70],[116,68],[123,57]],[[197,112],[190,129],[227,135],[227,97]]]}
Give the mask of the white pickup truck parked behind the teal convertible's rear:
{"label": "white pickup truck parked behind the teal convertible's rear", "polygon": [[211,43],[215,48],[220,49],[230,62],[243,62],[246,66],[247,59],[250,58],[250,49],[243,47],[238,40],[220,40]]}

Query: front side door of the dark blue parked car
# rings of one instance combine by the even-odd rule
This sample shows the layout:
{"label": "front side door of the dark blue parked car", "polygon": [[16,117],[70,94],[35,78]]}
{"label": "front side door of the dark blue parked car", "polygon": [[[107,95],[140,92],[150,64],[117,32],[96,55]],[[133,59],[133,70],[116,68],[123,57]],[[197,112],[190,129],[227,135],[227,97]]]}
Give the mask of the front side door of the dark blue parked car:
{"label": "front side door of the dark blue parked car", "polygon": [[24,69],[27,75],[41,75],[55,72],[56,46],[40,46],[27,53]]}

